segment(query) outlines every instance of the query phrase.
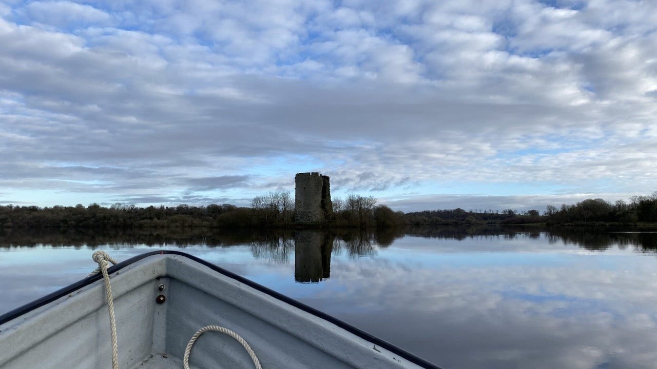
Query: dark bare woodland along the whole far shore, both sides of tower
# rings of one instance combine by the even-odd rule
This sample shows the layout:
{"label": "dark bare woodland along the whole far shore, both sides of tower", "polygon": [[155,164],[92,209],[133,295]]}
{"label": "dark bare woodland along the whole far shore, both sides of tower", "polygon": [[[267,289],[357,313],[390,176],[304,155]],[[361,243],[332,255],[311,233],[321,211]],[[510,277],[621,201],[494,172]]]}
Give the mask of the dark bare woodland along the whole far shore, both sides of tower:
{"label": "dark bare woodland along the whole far shore, both sides of tower", "polygon": [[[373,196],[351,194],[333,199],[328,227],[403,227],[430,225],[639,225],[657,223],[657,192],[613,204],[587,199],[574,205],[532,209],[441,209],[403,213],[377,204]],[[256,196],[250,207],[231,204],[208,206],[137,207],[116,203],[83,206],[0,206],[1,228],[293,228],[294,200],[286,191]]]}

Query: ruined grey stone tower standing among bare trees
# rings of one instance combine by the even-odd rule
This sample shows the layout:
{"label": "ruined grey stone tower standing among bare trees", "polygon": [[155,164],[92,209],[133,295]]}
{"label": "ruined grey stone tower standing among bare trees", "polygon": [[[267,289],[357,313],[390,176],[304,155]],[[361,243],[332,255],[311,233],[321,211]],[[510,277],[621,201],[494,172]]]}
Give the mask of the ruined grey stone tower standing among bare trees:
{"label": "ruined grey stone tower standing among bare trees", "polygon": [[296,223],[326,223],[333,214],[328,175],[296,173],[294,177]]}

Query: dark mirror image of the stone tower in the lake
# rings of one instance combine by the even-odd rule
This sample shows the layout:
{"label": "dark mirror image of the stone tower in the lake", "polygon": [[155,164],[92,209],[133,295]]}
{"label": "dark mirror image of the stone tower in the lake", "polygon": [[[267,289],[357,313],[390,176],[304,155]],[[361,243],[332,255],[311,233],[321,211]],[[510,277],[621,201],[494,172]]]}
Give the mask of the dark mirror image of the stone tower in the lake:
{"label": "dark mirror image of the stone tower in the lake", "polygon": [[317,283],[330,276],[330,253],[333,237],[319,230],[294,233],[294,280]]}

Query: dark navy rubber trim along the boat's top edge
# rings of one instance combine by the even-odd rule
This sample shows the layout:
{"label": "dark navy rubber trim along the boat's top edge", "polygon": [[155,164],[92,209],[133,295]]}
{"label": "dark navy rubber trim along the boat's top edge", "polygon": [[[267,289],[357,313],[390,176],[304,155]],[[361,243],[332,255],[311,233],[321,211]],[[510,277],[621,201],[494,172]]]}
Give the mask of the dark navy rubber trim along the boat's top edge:
{"label": "dark navy rubber trim along the boat's top edge", "polygon": [[[419,366],[422,366],[423,368],[429,368],[429,369],[442,369],[440,366],[437,366],[436,364],[433,364],[432,362],[428,362],[427,360],[424,360],[423,358],[418,357],[417,355],[414,355],[413,353],[409,353],[405,349],[401,349],[401,347],[398,347],[397,345],[394,345],[393,343],[390,343],[388,341],[385,341],[384,339],[381,339],[379,337],[373,336],[364,330],[361,330],[359,328],[356,328],[355,326],[352,326],[351,324],[348,324],[338,318],[335,318],[334,316],[330,316],[327,313],[323,313],[313,307],[309,307],[308,305],[301,303],[299,301],[296,301],[295,299],[292,299],[291,297],[288,297],[286,295],[283,295],[282,293],[276,292],[274,290],[271,290],[270,288],[267,288],[265,286],[262,286],[261,284],[258,284],[256,282],[253,282],[252,280],[249,280],[248,278],[244,278],[243,276],[240,276],[238,274],[235,274],[234,272],[227,271],[226,269],[223,269],[222,267],[219,267],[213,263],[210,263],[208,261],[205,261],[203,259],[200,259],[199,257],[196,257],[194,255],[190,255],[189,253],[185,253],[182,251],[176,251],[176,250],[160,250],[160,251],[148,251],[147,253],[141,253],[139,255],[135,255],[133,257],[130,257],[129,259],[125,259],[124,261],[117,263],[116,265],[113,265],[108,269],[108,273],[112,274],[114,272],[120,271],[121,269],[124,269],[125,267],[136,263],[137,261],[140,261],[142,259],[145,259],[147,257],[153,256],[153,255],[178,255],[181,257],[187,257],[188,259],[191,259],[195,261],[196,263],[200,263],[210,269],[212,269],[215,272],[219,272],[220,274],[223,274],[224,276],[227,276],[229,278],[232,278],[233,280],[237,280],[238,282],[241,282],[242,284],[246,284],[246,286],[249,286],[251,288],[254,288],[260,292],[266,293],[267,295],[270,295],[271,297],[274,297],[275,299],[278,299],[280,301],[283,301],[284,303],[287,303],[288,305],[292,305],[298,309],[301,309],[302,311],[305,311],[306,313],[309,313],[311,315],[317,316],[318,318],[321,318],[323,320],[326,320],[327,322],[330,322],[347,332],[350,332],[351,334],[354,334],[355,336],[361,337],[362,339],[365,339],[374,345],[378,345],[382,347],[383,349],[386,349],[396,355],[399,355],[400,357],[405,358],[406,360],[409,360],[410,362],[413,362],[413,364],[417,364]],[[30,311],[34,311],[35,309],[38,309],[39,307],[42,307],[44,305],[47,305],[53,301],[56,301],[57,299],[60,299],[61,297],[64,297],[72,292],[75,292],[76,290],[79,290],[80,288],[83,288],[85,286],[89,286],[93,282],[96,282],[97,280],[101,280],[102,274],[97,273],[92,276],[87,276],[86,278],[83,278],[79,280],[78,282],[75,282],[73,284],[70,284],[64,288],[60,288],[60,290],[57,290],[55,292],[49,293],[48,295],[45,295],[39,299],[35,299],[34,301],[27,303],[25,305],[22,305],[21,307],[18,307],[16,309],[13,309],[3,315],[0,315],[0,326],[3,324],[10,322],[11,320],[14,320],[16,318],[19,318],[22,315],[25,315],[27,313],[30,313]],[[0,332],[2,332],[0,330]]]}

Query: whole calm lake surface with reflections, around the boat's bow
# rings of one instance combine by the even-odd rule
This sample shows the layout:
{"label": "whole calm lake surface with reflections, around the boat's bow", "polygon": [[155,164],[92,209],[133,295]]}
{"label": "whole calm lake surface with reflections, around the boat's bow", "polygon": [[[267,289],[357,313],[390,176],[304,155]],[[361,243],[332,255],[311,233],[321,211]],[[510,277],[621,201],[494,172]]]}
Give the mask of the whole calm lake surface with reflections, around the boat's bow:
{"label": "whole calm lake surface with reflections, around the boat's bow", "polygon": [[[177,249],[450,368],[654,368],[657,234],[0,234],[0,314],[95,268]],[[210,322],[208,322],[210,324]]]}

